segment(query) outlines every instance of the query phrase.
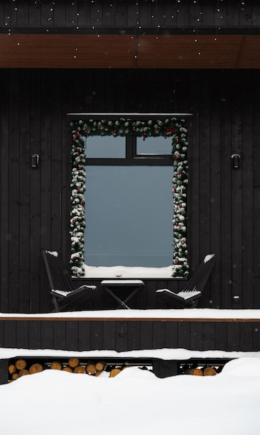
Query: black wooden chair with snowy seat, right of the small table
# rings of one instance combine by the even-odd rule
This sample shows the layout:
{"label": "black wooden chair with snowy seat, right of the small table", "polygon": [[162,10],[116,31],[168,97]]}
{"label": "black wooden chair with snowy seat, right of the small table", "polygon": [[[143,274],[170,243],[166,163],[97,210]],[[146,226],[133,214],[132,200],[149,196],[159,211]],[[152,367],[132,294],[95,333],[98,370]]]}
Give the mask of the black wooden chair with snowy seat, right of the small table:
{"label": "black wooden chair with snowy seat, right of the small table", "polygon": [[163,299],[171,308],[195,308],[199,298],[202,296],[202,290],[209,279],[215,262],[215,254],[206,255],[186,284],[184,290],[174,293],[168,290],[168,288],[162,288],[161,290],[156,290],[156,296]]}

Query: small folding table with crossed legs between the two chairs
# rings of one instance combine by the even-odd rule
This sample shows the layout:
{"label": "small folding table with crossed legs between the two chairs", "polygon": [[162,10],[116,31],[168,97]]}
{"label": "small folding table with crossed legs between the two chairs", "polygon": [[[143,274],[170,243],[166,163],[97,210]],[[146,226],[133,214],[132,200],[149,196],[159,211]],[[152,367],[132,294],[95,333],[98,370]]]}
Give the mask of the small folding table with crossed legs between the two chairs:
{"label": "small folding table with crossed legs between the two chairs", "polygon": [[[120,304],[117,309],[124,308],[130,310],[131,308],[127,305],[127,302],[132,299],[145,284],[140,279],[104,279],[101,281],[101,286],[104,286],[106,292]],[[130,293],[127,292],[127,297],[121,299],[115,295],[116,290],[122,290],[122,294],[124,290],[130,290]]]}

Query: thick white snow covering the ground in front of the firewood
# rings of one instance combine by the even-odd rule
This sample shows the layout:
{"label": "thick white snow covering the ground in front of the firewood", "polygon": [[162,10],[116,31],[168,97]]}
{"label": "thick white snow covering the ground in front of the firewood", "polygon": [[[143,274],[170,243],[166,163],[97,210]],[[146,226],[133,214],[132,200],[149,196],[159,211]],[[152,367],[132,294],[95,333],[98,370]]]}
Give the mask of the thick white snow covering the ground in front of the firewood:
{"label": "thick white snow covering the ground in front of the firewood", "polygon": [[260,358],[219,375],[113,378],[44,370],[0,386],[3,435],[259,435]]}

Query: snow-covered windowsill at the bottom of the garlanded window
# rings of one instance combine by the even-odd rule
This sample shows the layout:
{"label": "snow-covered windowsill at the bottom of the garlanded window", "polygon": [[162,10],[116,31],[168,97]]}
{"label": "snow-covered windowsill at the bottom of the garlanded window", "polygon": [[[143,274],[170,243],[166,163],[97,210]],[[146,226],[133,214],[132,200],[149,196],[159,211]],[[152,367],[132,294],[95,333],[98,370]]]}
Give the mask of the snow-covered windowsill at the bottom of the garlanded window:
{"label": "snow-covered windowsill at the bottom of the garlanded window", "polygon": [[[170,265],[165,268],[140,268],[126,266],[89,266],[84,265],[85,277],[83,278],[140,278],[140,279],[173,279],[172,272],[174,266]],[[179,277],[179,279],[183,277]],[[176,279],[176,278],[175,278]]]}

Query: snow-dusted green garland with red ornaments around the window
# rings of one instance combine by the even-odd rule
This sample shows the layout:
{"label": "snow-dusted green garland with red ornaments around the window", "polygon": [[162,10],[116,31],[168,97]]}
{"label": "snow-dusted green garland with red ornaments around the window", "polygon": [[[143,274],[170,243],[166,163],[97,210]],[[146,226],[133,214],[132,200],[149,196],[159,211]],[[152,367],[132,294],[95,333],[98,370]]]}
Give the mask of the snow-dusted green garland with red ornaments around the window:
{"label": "snow-dusted green garland with red ornaments around the window", "polygon": [[165,120],[133,121],[119,120],[80,120],[71,122],[72,128],[72,211],[70,215],[70,236],[72,241],[72,277],[83,277],[84,230],[86,190],[86,152],[83,136],[172,136],[174,176],[173,192],[173,273],[172,277],[188,276],[186,207],[188,184],[187,129],[186,120],[172,117]]}

